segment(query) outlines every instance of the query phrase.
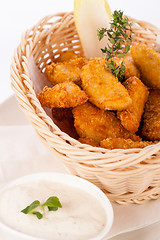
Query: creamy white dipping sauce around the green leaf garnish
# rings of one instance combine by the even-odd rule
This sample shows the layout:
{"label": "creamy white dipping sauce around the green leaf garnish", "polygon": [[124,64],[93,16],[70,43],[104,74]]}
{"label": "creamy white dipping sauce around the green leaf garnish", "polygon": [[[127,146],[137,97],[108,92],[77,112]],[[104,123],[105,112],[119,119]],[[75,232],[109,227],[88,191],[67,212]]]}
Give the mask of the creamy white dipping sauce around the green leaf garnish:
{"label": "creamy white dipping sauce around the green leaf garnish", "polygon": [[[59,198],[62,208],[46,211],[40,220],[21,212],[33,201],[43,204],[51,196]],[[47,240],[88,240],[97,236],[107,221],[103,207],[91,194],[48,180],[34,180],[3,191],[0,220],[14,230]]]}

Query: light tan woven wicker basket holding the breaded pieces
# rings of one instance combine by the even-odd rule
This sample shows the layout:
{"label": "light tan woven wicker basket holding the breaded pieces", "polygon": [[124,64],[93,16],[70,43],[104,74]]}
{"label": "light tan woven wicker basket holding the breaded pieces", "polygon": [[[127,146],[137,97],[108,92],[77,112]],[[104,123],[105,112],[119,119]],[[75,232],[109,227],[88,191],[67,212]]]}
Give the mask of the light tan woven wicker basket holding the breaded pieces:
{"label": "light tan woven wicker basket holding the breaded pieces", "polygon": [[[159,29],[129,19],[133,22],[133,44],[144,42],[155,47]],[[40,20],[24,34],[13,58],[12,87],[39,137],[57,153],[72,174],[96,184],[111,200],[124,204],[158,198],[160,143],[128,150],[107,150],[81,144],[61,131],[41,107],[36,93],[42,90],[43,84],[39,84],[38,89],[33,78],[44,77],[46,64],[64,50],[83,54],[73,13],[60,13]],[[33,77],[34,71],[38,77]]]}

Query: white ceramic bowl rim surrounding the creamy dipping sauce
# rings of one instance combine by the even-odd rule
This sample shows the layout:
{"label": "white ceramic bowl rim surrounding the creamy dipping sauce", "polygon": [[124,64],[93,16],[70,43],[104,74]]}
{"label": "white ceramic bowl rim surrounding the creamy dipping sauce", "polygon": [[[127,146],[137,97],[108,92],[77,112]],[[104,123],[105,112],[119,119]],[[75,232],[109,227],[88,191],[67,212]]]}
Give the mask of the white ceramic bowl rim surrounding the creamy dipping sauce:
{"label": "white ceramic bowl rim surrounding the creamy dipping sauce", "polygon": [[[2,188],[0,190],[0,196],[1,194],[3,194],[3,191],[13,186],[34,181],[34,180],[47,180],[47,181],[51,180],[52,182],[54,181],[55,183],[65,184],[66,187],[67,186],[75,187],[75,188],[81,189],[82,191],[85,190],[88,193],[90,193],[94,198],[96,198],[99,201],[101,206],[104,208],[107,221],[103,230],[97,236],[95,236],[94,238],[90,238],[88,240],[101,240],[107,235],[113,223],[112,205],[108,200],[108,198],[106,197],[106,195],[98,187],[96,187],[94,184],[82,178],[69,175],[69,174],[50,173],[50,172],[27,175],[13,181],[12,183]],[[32,236],[23,234],[21,232],[18,232],[6,226],[1,221],[0,221],[0,238],[3,240],[42,240],[43,239],[43,238],[32,237]]]}

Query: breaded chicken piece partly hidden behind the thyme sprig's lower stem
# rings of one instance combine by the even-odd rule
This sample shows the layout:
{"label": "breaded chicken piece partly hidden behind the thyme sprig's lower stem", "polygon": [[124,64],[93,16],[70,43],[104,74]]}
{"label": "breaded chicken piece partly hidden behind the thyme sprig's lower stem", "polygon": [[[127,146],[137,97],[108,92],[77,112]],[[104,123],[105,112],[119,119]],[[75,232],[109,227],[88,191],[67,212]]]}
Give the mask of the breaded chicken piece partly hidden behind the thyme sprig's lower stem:
{"label": "breaded chicken piece partly hidden behind the thyme sprig's lower stem", "polygon": [[[123,61],[123,58],[114,57],[114,61],[116,62],[117,65],[120,66]],[[125,64],[125,74],[124,74],[125,79],[134,77],[134,76],[140,78],[140,71],[136,67],[131,56],[125,57],[124,64]]]}

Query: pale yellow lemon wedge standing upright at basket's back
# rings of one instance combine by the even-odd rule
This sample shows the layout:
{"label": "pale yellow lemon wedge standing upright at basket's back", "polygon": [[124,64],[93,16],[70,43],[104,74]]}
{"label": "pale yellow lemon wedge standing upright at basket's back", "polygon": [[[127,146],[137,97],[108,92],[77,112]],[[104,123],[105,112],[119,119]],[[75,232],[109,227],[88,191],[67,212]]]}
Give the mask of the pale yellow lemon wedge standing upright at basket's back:
{"label": "pale yellow lemon wedge standing upright at basket's back", "polygon": [[86,58],[102,57],[101,48],[107,44],[107,37],[98,40],[97,30],[109,28],[112,18],[106,0],[75,0],[74,18]]}

